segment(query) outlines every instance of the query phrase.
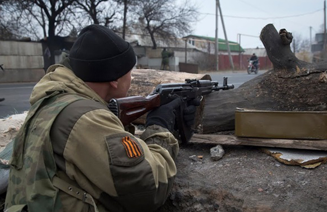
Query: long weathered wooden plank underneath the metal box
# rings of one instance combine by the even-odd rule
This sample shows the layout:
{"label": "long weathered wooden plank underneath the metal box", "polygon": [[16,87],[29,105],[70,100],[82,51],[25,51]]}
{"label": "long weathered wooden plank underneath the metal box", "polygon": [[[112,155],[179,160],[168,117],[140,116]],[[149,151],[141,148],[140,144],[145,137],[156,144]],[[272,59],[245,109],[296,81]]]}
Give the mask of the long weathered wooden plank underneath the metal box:
{"label": "long weathered wooden plank underneath the metal box", "polygon": [[264,139],[236,137],[233,135],[194,134],[190,143],[282,147],[327,151],[327,140]]}

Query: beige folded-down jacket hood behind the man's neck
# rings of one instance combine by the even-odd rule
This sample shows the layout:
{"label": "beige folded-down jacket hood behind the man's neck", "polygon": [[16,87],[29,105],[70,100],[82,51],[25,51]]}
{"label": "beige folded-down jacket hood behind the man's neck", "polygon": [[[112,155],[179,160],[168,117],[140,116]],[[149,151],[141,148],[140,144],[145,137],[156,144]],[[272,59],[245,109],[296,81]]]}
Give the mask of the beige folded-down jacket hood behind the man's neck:
{"label": "beige folded-down jacket hood behind the man's neck", "polygon": [[61,64],[51,65],[42,79],[34,86],[29,97],[31,105],[47,96],[49,91],[64,91],[78,93],[105,105],[107,103],[95,93],[83,80],[78,78],[72,70]]}

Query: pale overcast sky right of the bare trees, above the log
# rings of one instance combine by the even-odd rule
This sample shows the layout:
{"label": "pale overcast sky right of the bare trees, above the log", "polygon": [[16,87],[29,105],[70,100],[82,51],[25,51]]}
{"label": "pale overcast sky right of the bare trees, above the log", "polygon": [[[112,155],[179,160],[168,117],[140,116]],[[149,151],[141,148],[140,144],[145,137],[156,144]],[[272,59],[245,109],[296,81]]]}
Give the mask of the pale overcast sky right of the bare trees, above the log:
{"label": "pale overcast sky right of the bare trees, above the log", "polygon": [[[198,5],[201,13],[193,34],[215,37],[216,0],[190,1]],[[277,30],[286,28],[302,39],[310,39],[312,26],[313,42],[315,33],[323,32],[324,0],[220,0],[220,4],[228,40],[238,41],[238,34],[257,36],[241,35],[243,48],[264,47],[259,35],[268,23],[273,23]],[[218,36],[225,39],[220,16]]]}

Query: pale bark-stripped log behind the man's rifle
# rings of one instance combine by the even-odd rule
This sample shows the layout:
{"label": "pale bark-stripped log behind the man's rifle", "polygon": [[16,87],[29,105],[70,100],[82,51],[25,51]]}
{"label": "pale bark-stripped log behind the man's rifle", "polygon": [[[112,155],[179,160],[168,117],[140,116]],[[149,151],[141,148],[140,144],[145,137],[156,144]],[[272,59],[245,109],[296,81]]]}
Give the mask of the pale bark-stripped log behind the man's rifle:
{"label": "pale bark-stripped log behind the man's rifle", "polygon": [[[176,71],[162,71],[153,69],[134,69],[132,71],[131,87],[127,96],[147,96],[159,84],[181,83],[185,79],[211,80],[209,74],[192,74]],[[195,126],[199,126],[202,120],[204,101],[197,110]],[[133,124],[145,124],[146,114],[138,118]]]}

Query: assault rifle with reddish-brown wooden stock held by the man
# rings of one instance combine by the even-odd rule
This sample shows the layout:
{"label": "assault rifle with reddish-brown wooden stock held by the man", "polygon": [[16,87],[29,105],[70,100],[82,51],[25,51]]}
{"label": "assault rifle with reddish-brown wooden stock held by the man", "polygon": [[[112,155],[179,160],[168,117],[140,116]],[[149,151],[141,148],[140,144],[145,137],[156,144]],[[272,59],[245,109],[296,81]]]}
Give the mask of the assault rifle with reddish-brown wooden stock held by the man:
{"label": "assault rifle with reddish-brown wooden stock held by the man", "polygon": [[217,81],[185,79],[185,83],[167,83],[158,85],[147,97],[129,96],[109,101],[109,109],[120,119],[123,125],[128,125],[143,114],[153,110],[160,105],[181,98],[184,104],[176,111],[176,124],[182,142],[188,142],[193,130],[184,123],[182,112],[189,100],[203,98],[212,91],[233,89],[234,85],[227,84],[227,77],[224,77],[223,86],[218,86]]}

